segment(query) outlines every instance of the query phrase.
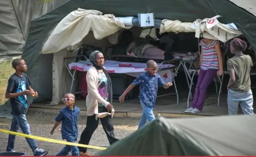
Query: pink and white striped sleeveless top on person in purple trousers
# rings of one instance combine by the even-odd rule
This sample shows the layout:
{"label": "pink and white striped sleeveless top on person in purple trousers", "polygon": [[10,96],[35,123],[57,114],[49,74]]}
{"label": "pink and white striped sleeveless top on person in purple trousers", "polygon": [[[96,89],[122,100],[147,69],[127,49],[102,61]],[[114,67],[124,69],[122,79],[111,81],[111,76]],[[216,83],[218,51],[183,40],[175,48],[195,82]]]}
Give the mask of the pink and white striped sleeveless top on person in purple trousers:
{"label": "pink and white striped sleeveless top on person in purple trousers", "polygon": [[208,45],[204,39],[200,41],[199,45],[202,47],[202,70],[219,69],[218,54],[215,49],[216,44],[218,44],[216,40],[212,40]]}

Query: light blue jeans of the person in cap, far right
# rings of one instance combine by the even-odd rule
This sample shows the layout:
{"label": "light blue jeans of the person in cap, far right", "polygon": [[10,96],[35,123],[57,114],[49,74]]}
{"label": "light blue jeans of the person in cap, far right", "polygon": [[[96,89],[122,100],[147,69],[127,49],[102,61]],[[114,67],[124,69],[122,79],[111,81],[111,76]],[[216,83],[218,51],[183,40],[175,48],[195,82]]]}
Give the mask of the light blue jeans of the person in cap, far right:
{"label": "light blue jeans of the person in cap, far right", "polygon": [[239,104],[244,114],[254,114],[254,98],[252,90],[247,92],[235,92],[228,90],[228,114],[236,115]]}

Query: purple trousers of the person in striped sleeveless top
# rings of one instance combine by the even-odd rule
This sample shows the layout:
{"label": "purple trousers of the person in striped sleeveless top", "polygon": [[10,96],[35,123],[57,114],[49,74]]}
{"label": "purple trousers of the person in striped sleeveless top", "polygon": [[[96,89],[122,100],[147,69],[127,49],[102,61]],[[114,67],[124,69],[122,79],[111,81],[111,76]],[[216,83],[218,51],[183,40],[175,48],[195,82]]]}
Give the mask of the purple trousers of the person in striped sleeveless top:
{"label": "purple trousers of the person in striped sleeveless top", "polygon": [[212,82],[213,78],[217,75],[217,71],[217,69],[200,69],[192,101],[193,108],[197,108],[200,111],[202,110],[207,88]]}

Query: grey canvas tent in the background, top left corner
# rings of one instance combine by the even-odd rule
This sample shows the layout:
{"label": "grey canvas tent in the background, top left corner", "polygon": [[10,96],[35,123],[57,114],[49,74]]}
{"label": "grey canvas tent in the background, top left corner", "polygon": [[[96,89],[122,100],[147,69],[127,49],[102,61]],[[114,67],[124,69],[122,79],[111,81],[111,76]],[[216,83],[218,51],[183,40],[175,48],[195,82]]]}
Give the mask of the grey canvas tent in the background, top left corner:
{"label": "grey canvas tent in the background, top left corner", "polygon": [[21,55],[30,21],[67,0],[1,0],[0,56]]}

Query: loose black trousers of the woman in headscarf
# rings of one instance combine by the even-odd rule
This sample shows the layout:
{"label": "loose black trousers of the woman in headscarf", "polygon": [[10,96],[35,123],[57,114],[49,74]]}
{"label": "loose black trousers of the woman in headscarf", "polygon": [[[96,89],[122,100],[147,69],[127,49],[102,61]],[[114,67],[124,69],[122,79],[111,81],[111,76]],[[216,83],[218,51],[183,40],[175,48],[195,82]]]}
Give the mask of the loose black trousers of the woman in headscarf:
{"label": "loose black trousers of the woman in headscarf", "polygon": [[[99,108],[99,113],[108,112],[107,108],[104,106],[98,107],[98,108]],[[86,127],[80,136],[80,140],[78,141],[79,144],[84,144],[84,145],[89,144],[93,132],[97,129],[97,127],[99,125],[99,119],[100,119],[103,129],[107,135],[109,144],[112,145],[114,142],[118,141],[118,139],[115,138],[113,119],[111,118],[111,115],[106,116],[104,118],[98,118],[96,120],[95,114],[94,114],[92,116],[87,116]],[[78,149],[80,152],[83,152],[83,153],[86,153],[86,151],[87,151],[87,148],[78,147]]]}

